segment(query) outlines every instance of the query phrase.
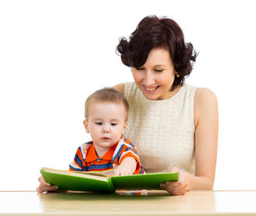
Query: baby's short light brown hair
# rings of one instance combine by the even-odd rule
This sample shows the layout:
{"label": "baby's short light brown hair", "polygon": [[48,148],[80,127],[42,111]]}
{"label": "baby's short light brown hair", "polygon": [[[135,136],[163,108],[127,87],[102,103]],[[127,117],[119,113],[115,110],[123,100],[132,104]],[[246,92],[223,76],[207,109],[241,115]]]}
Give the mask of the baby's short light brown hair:
{"label": "baby's short light brown hair", "polygon": [[97,90],[95,93],[90,94],[87,97],[86,101],[86,109],[85,109],[85,117],[88,118],[88,109],[91,102],[96,103],[115,103],[115,104],[123,104],[126,115],[125,121],[128,120],[128,110],[129,110],[129,103],[121,94],[120,92],[116,91],[112,87],[105,87],[102,89]]}

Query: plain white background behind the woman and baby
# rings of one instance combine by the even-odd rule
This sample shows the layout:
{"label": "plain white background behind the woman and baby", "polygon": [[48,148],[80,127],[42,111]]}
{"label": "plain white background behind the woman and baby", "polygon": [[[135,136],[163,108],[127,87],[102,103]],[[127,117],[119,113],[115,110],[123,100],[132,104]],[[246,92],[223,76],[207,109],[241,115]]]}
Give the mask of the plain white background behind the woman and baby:
{"label": "plain white background behind the woman and baby", "polygon": [[35,190],[41,166],[68,169],[89,140],[84,102],[132,81],[115,54],[149,14],[199,51],[187,83],[218,97],[215,189],[256,189],[255,5],[215,1],[0,1],[0,190]]}

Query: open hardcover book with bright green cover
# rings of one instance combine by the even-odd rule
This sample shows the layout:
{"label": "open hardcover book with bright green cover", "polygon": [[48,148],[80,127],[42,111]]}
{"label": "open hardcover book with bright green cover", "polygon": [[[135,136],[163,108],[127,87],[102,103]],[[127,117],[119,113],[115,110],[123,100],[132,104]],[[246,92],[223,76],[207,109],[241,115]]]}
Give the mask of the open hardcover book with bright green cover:
{"label": "open hardcover book with bright green cover", "polygon": [[115,190],[161,190],[160,183],[178,181],[178,173],[107,176],[98,172],[74,172],[43,167],[45,182],[59,190],[107,192]]}

